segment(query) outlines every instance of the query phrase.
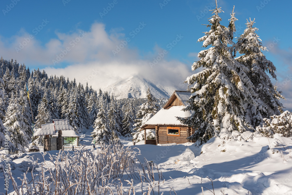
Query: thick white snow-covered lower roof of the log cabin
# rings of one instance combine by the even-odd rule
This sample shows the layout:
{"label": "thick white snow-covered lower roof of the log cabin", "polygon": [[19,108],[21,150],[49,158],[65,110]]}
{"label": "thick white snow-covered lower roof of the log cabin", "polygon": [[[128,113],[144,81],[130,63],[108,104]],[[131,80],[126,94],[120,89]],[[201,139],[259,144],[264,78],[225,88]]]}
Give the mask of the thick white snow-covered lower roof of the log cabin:
{"label": "thick white snow-covered lower roof of the log cabin", "polygon": [[190,111],[182,111],[185,106],[172,106],[169,109],[162,108],[143,127],[147,125],[183,125],[176,117],[189,117]]}

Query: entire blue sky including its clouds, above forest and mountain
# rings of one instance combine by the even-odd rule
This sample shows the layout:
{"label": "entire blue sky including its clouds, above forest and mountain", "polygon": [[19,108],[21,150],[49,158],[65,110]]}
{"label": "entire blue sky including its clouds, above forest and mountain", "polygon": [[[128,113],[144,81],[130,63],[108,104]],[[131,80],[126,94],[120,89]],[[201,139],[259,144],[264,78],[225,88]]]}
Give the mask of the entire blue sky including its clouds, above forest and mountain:
{"label": "entire blue sky including its clouds, above forest and mountain", "polygon": [[[235,5],[237,34],[244,31],[246,18],[256,18],[258,34],[270,50],[265,55],[277,67],[277,85],[287,97],[283,103],[291,109],[292,49],[286,38],[291,25],[284,7],[292,2],[218,0],[218,5],[225,12],[220,14],[223,25]],[[135,74],[181,87],[201,51],[197,39],[208,30],[201,24],[208,23],[215,0],[2,0],[0,6],[0,52],[6,59],[76,77],[95,88]],[[169,45],[175,39],[177,44]],[[151,68],[164,49],[167,53]]]}

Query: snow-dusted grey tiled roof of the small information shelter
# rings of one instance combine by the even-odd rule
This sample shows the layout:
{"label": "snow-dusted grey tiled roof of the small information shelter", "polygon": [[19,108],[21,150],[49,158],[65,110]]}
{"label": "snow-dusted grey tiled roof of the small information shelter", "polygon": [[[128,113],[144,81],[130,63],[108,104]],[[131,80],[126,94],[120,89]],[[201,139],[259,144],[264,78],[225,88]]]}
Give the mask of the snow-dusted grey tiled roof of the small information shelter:
{"label": "snow-dusted grey tiled roof of the small information shelter", "polygon": [[53,123],[41,125],[41,128],[34,133],[34,136],[52,135],[53,137],[58,137],[59,130],[62,131],[62,137],[79,137],[67,119],[54,119]]}

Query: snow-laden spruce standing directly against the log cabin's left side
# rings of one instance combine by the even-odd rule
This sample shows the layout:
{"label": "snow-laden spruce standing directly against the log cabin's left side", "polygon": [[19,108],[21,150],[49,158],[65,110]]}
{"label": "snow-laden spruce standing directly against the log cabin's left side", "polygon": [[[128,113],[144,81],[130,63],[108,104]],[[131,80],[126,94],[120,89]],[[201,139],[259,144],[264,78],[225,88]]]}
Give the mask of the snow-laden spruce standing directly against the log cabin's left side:
{"label": "snow-laden spruce standing directly against the log cabin's left side", "polygon": [[[150,88],[147,90],[146,102],[140,106],[140,110],[136,115],[134,120],[134,129],[133,129],[133,141],[139,142],[144,140],[144,131],[140,128],[144,123],[149,120],[154,114],[159,111],[159,107],[156,105],[156,98],[151,94]],[[147,139],[155,139],[155,134],[151,130],[146,131]]]}

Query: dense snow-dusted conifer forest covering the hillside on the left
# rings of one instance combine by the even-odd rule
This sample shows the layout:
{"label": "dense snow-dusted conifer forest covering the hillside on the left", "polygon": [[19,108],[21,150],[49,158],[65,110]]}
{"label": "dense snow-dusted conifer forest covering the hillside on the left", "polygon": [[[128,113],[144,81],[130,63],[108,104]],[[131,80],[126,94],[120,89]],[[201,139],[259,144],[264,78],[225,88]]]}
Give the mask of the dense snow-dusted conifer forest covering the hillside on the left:
{"label": "dense snow-dusted conifer forest covering the hillside on the left", "polygon": [[[3,97],[0,99],[0,118],[3,121],[3,125],[0,123],[0,143],[4,148],[3,134],[5,127],[8,127],[11,130],[11,151],[25,151],[24,147],[32,142],[32,120],[34,130],[41,128],[42,124],[51,123],[53,119],[68,119],[78,133],[93,127],[92,137],[99,143],[104,143],[95,135],[99,130],[103,133],[98,136],[108,136],[108,141],[118,140],[121,135],[131,136],[135,113],[147,101],[116,100],[101,89],[96,91],[88,87],[87,83],[84,86],[62,75],[48,76],[44,70],[30,71],[13,59],[7,61],[1,57],[0,64],[0,78],[3,79],[0,83]],[[155,99],[157,105],[164,101],[157,102]],[[43,137],[34,137],[34,144],[43,145]]]}

